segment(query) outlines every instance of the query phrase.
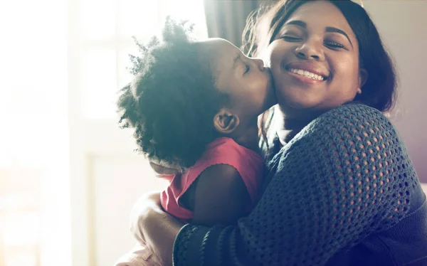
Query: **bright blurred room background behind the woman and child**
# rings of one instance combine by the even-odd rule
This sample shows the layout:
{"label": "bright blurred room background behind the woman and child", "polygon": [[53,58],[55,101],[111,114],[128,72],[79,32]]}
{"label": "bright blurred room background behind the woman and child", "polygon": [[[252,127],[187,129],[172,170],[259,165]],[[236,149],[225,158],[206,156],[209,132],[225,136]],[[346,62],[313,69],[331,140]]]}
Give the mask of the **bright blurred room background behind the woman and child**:
{"label": "bright blurred room background behind the woman and child", "polygon": [[[240,45],[249,0],[0,1],[0,266],[112,265],[132,248],[128,214],[164,186],[117,127],[131,36],[167,15]],[[427,182],[427,1],[364,0],[393,55],[393,120]]]}

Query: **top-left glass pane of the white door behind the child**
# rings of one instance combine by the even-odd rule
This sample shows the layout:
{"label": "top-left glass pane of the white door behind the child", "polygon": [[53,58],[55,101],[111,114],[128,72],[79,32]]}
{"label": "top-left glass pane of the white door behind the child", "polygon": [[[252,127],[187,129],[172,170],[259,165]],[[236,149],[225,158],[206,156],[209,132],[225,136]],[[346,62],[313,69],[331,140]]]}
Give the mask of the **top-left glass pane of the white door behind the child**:
{"label": "top-left glass pane of the white door behind the child", "polygon": [[115,33],[115,0],[82,0],[80,28],[83,38],[113,38]]}

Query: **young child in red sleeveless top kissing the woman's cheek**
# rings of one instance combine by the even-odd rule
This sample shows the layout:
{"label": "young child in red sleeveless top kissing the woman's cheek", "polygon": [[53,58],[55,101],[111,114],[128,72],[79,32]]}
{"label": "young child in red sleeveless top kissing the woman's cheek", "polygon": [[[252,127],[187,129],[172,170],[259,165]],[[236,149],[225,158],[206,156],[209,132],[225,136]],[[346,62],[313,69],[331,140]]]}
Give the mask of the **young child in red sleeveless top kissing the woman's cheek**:
{"label": "young child in red sleeveless top kissing the woman's cheek", "polygon": [[[228,41],[192,41],[189,31],[168,18],[162,42],[137,43],[120,125],[135,129],[145,156],[184,173],[161,176],[170,181],[165,211],[186,223],[233,224],[258,197],[258,116],[276,102],[271,75]],[[141,244],[116,265],[159,265]]]}

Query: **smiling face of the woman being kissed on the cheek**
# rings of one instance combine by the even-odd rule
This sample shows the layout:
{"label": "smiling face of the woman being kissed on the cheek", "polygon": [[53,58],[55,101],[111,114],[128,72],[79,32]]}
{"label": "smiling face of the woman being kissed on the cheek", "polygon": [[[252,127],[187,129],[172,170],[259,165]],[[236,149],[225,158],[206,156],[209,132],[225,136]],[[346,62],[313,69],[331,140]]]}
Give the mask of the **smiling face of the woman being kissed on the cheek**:
{"label": "smiling face of the woman being kissed on the cheek", "polygon": [[285,115],[322,112],[354,99],[367,75],[357,38],[329,1],[300,6],[264,53]]}

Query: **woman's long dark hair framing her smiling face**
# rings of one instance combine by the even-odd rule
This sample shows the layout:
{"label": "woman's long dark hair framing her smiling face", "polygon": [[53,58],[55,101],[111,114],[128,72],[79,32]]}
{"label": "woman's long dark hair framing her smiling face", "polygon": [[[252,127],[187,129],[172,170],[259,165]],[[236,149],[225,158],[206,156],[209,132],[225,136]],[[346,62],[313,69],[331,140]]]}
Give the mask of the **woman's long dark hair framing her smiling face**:
{"label": "woman's long dark hair framing her smiling face", "polygon": [[[316,0],[311,0],[316,1]],[[248,17],[243,33],[242,50],[247,55],[259,55],[273,42],[290,15],[310,1],[282,0],[273,6],[263,6]],[[362,6],[351,0],[330,0],[342,12],[359,43],[359,62],[367,70],[368,79],[362,94],[354,101],[381,112],[390,111],[396,102],[396,71],[381,41],[374,23]]]}

